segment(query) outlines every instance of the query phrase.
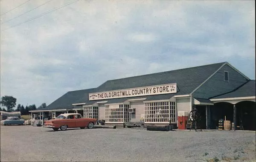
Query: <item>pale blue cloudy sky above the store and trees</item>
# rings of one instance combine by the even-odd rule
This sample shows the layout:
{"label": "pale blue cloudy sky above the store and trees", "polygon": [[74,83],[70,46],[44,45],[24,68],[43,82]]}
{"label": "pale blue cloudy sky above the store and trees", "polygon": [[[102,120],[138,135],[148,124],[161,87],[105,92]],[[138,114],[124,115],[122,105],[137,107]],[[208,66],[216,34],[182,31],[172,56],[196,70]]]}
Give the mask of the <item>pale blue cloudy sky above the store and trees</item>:
{"label": "pale blue cloudy sky above the store and trees", "polygon": [[24,106],[224,61],[255,79],[253,0],[1,0],[0,15],[0,96]]}

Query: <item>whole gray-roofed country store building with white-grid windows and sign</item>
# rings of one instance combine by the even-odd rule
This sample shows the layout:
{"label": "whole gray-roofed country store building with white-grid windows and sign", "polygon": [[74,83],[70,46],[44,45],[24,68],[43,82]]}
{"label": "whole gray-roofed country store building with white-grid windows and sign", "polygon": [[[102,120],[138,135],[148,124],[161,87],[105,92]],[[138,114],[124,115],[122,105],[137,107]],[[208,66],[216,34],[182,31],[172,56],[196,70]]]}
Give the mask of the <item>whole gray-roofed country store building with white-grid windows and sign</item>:
{"label": "whole gray-roofed country store building with white-grid windows and sign", "polygon": [[177,126],[178,112],[195,107],[205,129],[215,128],[224,116],[238,125],[245,112],[251,115],[246,121],[250,124],[255,121],[255,80],[221,62],[109,80],[97,88],[67,92],[46,108],[30,112],[53,118],[75,111],[117,126],[141,120],[145,125]]}

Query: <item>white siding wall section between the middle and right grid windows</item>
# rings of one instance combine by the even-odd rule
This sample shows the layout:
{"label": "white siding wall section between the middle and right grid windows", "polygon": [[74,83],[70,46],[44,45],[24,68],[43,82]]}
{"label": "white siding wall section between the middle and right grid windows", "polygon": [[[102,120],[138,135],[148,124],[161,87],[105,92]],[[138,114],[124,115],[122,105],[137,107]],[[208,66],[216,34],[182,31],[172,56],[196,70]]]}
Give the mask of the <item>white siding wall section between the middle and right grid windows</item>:
{"label": "white siding wall section between the middle and right grid windows", "polygon": [[130,108],[135,109],[135,118],[134,113],[129,113],[131,119],[130,122],[139,122],[141,115],[144,114],[144,103],[142,101],[131,102]]}

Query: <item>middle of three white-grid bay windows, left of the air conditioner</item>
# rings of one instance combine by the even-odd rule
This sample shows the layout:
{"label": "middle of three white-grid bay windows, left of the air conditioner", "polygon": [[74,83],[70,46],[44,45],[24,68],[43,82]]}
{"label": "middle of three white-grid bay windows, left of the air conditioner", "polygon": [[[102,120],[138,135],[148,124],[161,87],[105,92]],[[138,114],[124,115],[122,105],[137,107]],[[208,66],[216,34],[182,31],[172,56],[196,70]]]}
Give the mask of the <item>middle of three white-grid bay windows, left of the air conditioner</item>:
{"label": "middle of three white-grid bay windows, left of the air conditioner", "polygon": [[109,123],[123,123],[129,121],[129,105],[106,105],[105,120]]}

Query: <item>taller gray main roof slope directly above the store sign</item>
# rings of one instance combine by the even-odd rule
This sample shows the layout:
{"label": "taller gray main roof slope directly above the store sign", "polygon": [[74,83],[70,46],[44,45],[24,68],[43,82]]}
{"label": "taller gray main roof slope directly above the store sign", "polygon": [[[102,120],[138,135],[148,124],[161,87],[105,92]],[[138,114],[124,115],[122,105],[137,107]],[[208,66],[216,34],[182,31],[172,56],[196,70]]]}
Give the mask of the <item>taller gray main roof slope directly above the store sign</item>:
{"label": "taller gray main roof slope directly above the store sign", "polygon": [[192,92],[203,83],[209,76],[215,73],[225,62],[209,64],[199,67],[190,67],[180,70],[172,70],[161,73],[153,73],[128,78],[109,80],[100,85],[97,92],[110,91],[116,89],[128,89],[135,87],[145,87],[169,83],[177,83],[179,95]]}

